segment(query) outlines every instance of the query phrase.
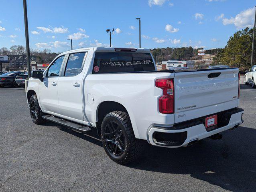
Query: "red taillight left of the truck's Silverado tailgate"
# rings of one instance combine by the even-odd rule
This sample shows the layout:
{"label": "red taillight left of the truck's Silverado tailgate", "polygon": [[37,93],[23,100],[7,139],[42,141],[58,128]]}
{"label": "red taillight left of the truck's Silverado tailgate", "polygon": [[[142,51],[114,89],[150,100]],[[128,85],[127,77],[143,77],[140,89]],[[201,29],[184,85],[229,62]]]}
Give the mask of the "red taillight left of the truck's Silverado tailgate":
{"label": "red taillight left of the truck's Silverado tailgate", "polygon": [[163,89],[163,96],[158,99],[159,112],[174,113],[174,84],[173,79],[157,79],[156,87]]}

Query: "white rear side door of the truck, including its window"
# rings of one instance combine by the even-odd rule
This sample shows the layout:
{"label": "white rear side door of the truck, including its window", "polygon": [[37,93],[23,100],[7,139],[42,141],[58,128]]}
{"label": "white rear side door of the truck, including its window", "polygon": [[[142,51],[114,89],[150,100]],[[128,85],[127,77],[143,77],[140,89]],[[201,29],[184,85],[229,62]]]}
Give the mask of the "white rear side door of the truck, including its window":
{"label": "white rear side door of the truck, including its window", "polygon": [[87,52],[76,52],[67,55],[58,80],[60,114],[69,118],[83,120],[83,75]]}

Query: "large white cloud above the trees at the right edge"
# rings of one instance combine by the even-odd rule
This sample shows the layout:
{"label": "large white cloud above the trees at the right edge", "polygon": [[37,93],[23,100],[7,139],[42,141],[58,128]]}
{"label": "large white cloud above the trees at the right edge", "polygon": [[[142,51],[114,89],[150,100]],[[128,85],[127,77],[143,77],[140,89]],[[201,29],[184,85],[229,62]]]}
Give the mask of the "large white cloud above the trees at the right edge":
{"label": "large white cloud above the trees at the right edge", "polygon": [[223,25],[234,24],[237,29],[242,29],[245,27],[252,27],[254,21],[254,8],[249,8],[237,14],[235,17],[223,18],[222,23]]}

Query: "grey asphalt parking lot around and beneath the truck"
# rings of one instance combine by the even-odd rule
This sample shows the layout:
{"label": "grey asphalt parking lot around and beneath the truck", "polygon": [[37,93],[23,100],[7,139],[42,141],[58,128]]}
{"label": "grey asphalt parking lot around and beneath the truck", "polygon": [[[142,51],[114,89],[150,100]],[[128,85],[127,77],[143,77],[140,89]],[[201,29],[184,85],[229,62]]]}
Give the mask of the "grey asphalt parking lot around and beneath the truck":
{"label": "grey asphalt parking lot around and beneath the truck", "polygon": [[95,132],[33,124],[24,89],[0,88],[0,192],[256,191],[256,89],[240,87],[244,124],[222,140],[176,149],[145,144],[126,166],[108,158]]}

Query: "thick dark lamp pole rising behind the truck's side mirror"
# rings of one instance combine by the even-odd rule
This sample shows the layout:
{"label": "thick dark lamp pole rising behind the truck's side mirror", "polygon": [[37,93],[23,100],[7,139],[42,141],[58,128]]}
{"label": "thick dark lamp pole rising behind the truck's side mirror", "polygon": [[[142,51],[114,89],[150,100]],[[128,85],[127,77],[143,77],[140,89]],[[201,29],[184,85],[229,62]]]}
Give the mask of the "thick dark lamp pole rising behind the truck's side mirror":
{"label": "thick dark lamp pole rising behind the truck's side mirror", "polygon": [[26,63],[28,67],[28,78],[31,77],[31,67],[30,67],[30,51],[29,51],[29,39],[28,39],[28,14],[26,10],[26,0],[23,0],[24,8],[24,23],[25,23],[25,36],[26,36]]}

